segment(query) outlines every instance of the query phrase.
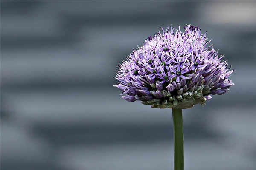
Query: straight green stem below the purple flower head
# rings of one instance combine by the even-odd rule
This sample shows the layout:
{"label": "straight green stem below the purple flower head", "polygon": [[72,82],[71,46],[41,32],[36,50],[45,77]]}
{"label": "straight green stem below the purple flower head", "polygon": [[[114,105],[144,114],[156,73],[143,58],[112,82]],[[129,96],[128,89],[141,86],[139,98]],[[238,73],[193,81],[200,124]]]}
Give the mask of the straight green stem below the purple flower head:
{"label": "straight green stem below the purple flower head", "polygon": [[174,170],[184,170],[184,137],[181,109],[172,109],[174,133]]}

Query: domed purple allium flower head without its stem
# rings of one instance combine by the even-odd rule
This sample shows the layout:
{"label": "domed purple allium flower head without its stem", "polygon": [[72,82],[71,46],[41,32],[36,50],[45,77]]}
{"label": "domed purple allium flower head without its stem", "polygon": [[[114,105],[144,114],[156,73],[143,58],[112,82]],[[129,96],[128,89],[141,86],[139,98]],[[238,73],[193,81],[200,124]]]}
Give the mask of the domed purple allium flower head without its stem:
{"label": "domed purple allium flower head without its stem", "polygon": [[229,91],[233,70],[212,45],[207,46],[211,40],[201,28],[160,28],[118,65],[114,87],[127,94],[122,98],[152,108],[184,109],[205,105],[210,94]]}

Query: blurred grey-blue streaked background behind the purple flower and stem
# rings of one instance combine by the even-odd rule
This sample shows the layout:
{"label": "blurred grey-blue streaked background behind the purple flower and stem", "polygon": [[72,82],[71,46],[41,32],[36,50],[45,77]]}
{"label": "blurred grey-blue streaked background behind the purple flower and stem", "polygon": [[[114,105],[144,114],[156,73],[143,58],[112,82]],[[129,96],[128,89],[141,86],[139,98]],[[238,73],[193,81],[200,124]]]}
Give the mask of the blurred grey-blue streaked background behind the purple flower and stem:
{"label": "blurred grey-blue streaked background behind the purple flower and stem", "polygon": [[116,65],[200,26],[235,73],[183,110],[186,170],[256,169],[256,1],[1,1],[3,170],[172,170],[170,109],[122,99]]}

